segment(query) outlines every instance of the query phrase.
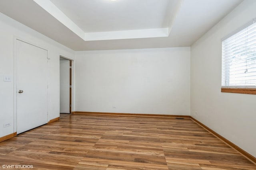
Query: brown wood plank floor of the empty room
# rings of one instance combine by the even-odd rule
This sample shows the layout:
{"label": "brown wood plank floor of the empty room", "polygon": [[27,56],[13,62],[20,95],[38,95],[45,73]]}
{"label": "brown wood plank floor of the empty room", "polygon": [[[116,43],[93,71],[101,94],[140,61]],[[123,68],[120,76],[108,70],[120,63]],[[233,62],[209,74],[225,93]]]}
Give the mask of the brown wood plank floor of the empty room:
{"label": "brown wood plank floor of the empty room", "polygon": [[33,165],[35,170],[256,170],[190,118],[91,114],[68,115],[0,143],[0,169],[2,165]]}

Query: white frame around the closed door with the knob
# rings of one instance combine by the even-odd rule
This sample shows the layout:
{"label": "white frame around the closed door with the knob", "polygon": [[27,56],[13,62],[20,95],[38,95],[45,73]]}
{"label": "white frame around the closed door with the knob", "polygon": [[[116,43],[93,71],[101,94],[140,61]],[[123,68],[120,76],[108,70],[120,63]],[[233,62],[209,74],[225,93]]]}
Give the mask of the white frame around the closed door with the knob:
{"label": "white frame around the closed door with the knob", "polygon": [[[20,40],[23,41],[24,43],[28,43],[30,45],[34,45],[38,48],[44,49],[47,51],[47,59],[49,56],[49,50],[45,47],[42,47],[41,45],[37,45],[36,43],[30,42],[26,39],[22,39],[20,37],[13,36],[13,100],[14,100],[14,105],[13,105],[13,111],[14,111],[14,120],[13,120],[13,131],[14,133],[17,132],[17,51],[16,51],[16,41]],[[47,62],[47,71],[48,71],[48,78],[47,78],[47,84],[49,81],[49,63]],[[47,110],[48,110],[48,90],[47,90]],[[47,120],[49,121],[49,116],[47,112]]]}

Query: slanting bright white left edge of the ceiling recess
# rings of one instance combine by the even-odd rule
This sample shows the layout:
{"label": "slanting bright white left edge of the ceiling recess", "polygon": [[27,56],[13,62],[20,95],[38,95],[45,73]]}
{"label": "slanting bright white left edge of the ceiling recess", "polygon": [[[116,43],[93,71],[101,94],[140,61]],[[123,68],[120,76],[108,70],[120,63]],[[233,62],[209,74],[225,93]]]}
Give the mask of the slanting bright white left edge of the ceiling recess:
{"label": "slanting bright white left edge of the ceiling recess", "polygon": [[57,6],[50,0],[34,0],[39,6],[51,14],[54,18],[60,21],[63,25],[68,27],[80,38],[84,39],[84,31],[78,27],[72,20],[70,20]]}

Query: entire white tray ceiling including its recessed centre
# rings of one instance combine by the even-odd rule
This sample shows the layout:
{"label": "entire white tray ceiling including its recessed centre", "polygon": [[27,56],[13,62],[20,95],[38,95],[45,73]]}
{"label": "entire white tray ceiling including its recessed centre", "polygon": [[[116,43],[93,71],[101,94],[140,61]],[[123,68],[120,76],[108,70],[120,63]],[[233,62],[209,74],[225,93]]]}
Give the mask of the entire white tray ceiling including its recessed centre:
{"label": "entire white tray ceiling including its recessed centre", "polygon": [[0,12],[75,50],[188,47],[242,0],[0,0]]}

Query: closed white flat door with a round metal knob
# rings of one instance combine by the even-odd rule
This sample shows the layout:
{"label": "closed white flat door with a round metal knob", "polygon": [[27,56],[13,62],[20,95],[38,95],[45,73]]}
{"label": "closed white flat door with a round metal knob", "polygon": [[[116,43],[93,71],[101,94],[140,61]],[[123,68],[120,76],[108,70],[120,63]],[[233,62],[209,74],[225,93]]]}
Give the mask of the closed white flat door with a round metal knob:
{"label": "closed white flat door with a round metal knob", "polygon": [[47,123],[47,51],[16,40],[17,133]]}

